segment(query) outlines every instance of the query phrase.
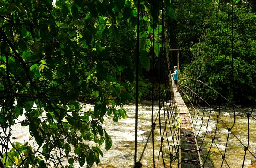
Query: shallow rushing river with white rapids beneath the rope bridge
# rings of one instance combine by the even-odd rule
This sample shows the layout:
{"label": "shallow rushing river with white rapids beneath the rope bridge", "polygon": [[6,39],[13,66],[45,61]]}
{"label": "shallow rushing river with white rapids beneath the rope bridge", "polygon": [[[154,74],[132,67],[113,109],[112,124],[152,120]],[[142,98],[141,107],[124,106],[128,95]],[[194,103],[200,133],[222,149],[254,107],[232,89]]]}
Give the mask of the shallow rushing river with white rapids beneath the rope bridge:
{"label": "shallow rushing river with white rapids beneath the rope bridge", "polygon": [[[139,104],[138,105],[138,136],[137,136],[137,161],[140,159],[143,148],[147,142],[148,136],[150,135],[151,130],[151,113],[152,113],[152,105],[151,104]],[[108,132],[108,135],[112,138],[112,148],[108,151],[104,149],[104,145],[101,146],[101,149],[103,151],[103,158],[101,158],[101,162],[98,165],[93,165],[93,168],[133,168],[134,166],[134,154],[135,154],[135,104],[128,104],[124,105],[124,109],[127,112],[127,118],[126,119],[119,119],[118,122],[113,122],[113,117],[105,118],[105,121],[102,125],[103,128],[106,129]],[[217,111],[218,109],[215,109]],[[154,105],[154,120],[157,116],[157,113],[159,111],[158,104]],[[209,114],[210,109],[206,109],[204,112],[200,111],[198,114],[199,116],[203,116],[203,122],[207,123],[209,120]],[[193,114],[193,111],[191,111],[191,116],[194,118],[193,124],[195,126],[195,132],[198,134],[197,140],[200,143],[202,142],[202,139],[204,137],[204,134],[207,132],[207,137],[204,139],[203,142],[203,151],[205,149],[211,151],[211,157],[214,161],[214,166],[211,165],[210,161],[207,161],[205,164],[205,168],[209,167],[215,167],[215,168],[241,168],[242,167],[242,161],[244,158],[244,147],[242,144],[247,145],[247,133],[248,133],[248,118],[245,112],[251,112],[251,108],[242,108],[236,109],[236,122],[234,124],[234,127],[231,129],[233,134],[230,134],[225,159],[227,163],[222,164],[222,156],[219,154],[219,151],[222,152],[222,155],[225,151],[226,142],[227,142],[227,135],[228,131],[226,127],[232,127],[234,123],[234,112],[232,109],[225,109],[222,108],[221,115],[219,117],[218,127],[217,127],[217,133],[214,140],[214,145],[212,145],[210,149],[210,143],[212,136],[214,136],[215,128],[216,128],[216,121],[217,121],[217,115],[218,113],[213,113],[211,111],[211,116],[209,120],[209,124],[207,126],[208,131],[206,127],[200,127],[202,124],[202,121],[199,122],[199,120],[196,121],[197,118],[197,112],[195,115]],[[167,109],[165,107],[165,110],[163,108],[160,110],[161,114],[161,128],[163,130],[164,128],[164,121],[163,116],[167,116]],[[256,111],[252,113],[252,116],[255,117]],[[159,119],[159,117],[158,117]],[[163,161],[162,161],[162,155],[160,151],[160,133],[159,133],[159,120],[157,119],[154,130],[154,153],[155,153],[155,164],[158,163],[159,168],[163,168]],[[256,155],[256,120],[253,118],[249,118],[249,151]],[[175,150],[172,146],[172,126],[168,127],[169,124],[167,124],[167,135],[168,139],[166,138],[166,135],[164,135],[164,141],[163,141],[163,157],[165,160],[166,167],[172,167],[177,168],[177,160],[175,160],[172,165],[169,163],[169,156],[170,153],[175,154]],[[29,137],[28,129],[23,129],[22,132],[17,129],[18,132],[15,132],[16,129],[14,129],[14,132],[12,133],[12,137],[17,137],[18,140],[22,143],[27,141]],[[26,130],[26,131],[25,131]],[[162,131],[163,133],[163,131]],[[208,135],[209,134],[209,135]],[[238,140],[237,140],[238,138]],[[175,139],[175,138],[174,138]],[[167,141],[168,140],[168,141]],[[241,142],[240,142],[241,141]],[[30,141],[30,143],[32,143]],[[169,142],[169,143],[168,143]],[[170,151],[169,151],[170,147]],[[152,136],[150,137],[147,146],[145,148],[144,154],[142,155],[141,163],[142,168],[152,168],[153,167],[153,145],[152,145]],[[216,153],[216,156],[213,155]],[[160,153],[160,155],[159,155]],[[158,156],[159,156],[159,162],[158,162]],[[245,158],[244,167],[246,168],[253,168],[256,167],[256,159],[253,157],[248,151]],[[74,163],[74,168],[80,168],[78,163]]]}

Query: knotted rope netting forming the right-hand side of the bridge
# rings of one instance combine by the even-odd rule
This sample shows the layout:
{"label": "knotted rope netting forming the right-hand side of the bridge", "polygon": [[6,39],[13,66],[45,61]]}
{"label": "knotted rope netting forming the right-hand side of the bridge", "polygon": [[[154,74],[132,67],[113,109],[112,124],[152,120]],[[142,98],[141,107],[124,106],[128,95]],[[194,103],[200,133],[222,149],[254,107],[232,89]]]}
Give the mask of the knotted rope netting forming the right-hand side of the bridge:
{"label": "knotted rope netting forming the right-hand side of the bridge", "polygon": [[[224,23],[222,20],[222,11],[220,12],[221,19],[218,20],[219,8],[223,9],[223,5],[224,3],[222,2],[222,4],[213,7],[213,20],[210,22],[207,20],[207,22],[217,23],[219,21],[221,24]],[[230,15],[230,13],[233,12],[233,5],[231,5],[232,3],[227,6],[226,41],[229,34],[233,35],[233,15]],[[229,33],[229,30],[231,33]],[[207,28],[205,31],[207,31]],[[220,33],[222,31],[221,26],[218,31],[214,31],[214,33],[212,33],[212,31],[211,28],[206,34],[209,33],[210,36],[218,36],[217,32]],[[183,96],[183,99],[187,102],[188,106],[191,106],[192,108],[191,113],[193,116],[194,128],[197,131],[197,138],[200,140],[202,155],[204,155],[204,167],[208,166],[209,161],[212,161],[212,164],[215,164],[214,167],[223,167],[224,165],[226,167],[250,166],[250,161],[255,160],[256,156],[254,150],[255,146],[252,146],[252,143],[250,143],[250,140],[255,138],[252,130],[250,130],[253,123],[256,123],[254,105],[250,110],[251,112],[248,112],[247,109],[245,110],[236,105],[233,100],[224,96],[220,91],[217,91],[217,89],[210,87],[206,77],[202,77],[202,67],[210,63],[211,60],[208,58],[209,53],[211,53],[211,61],[215,60],[216,64],[220,63],[218,62],[218,57],[220,55],[219,44],[214,44],[215,46],[213,45],[214,47],[212,48],[212,51],[205,52],[204,48],[207,39],[206,35],[204,37],[205,38],[201,36],[197,46],[198,51],[195,53],[191,65],[186,69],[186,72],[182,74],[181,83],[179,83],[180,93]],[[220,36],[218,38],[220,38]],[[230,37],[230,39],[232,40],[233,38]],[[226,44],[225,53],[227,53],[227,47]],[[230,48],[232,50],[230,54],[232,57],[231,74],[233,74],[233,42]],[[215,53],[216,56],[214,56],[214,49],[217,51],[217,53]],[[223,59],[226,60],[226,57],[227,54],[225,54]],[[223,67],[226,69],[226,61],[223,63]],[[215,77],[216,76],[214,75],[214,78]],[[223,83],[226,77],[227,73],[224,73],[221,79]],[[215,80],[218,80],[217,77]],[[206,91],[209,92],[209,94],[207,93],[208,95],[212,95],[212,98],[206,97]],[[217,97],[217,100],[219,100],[219,106],[212,105],[214,97]],[[227,109],[221,107],[221,101],[229,103],[231,110],[227,112]],[[255,98],[253,102],[255,102]],[[244,121],[245,117],[247,121]],[[247,127],[245,128],[246,125]],[[210,147],[206,147],[207,145],[210,145]],[[233,148],[236,148],[237,156],[231,155],[230,151],[233,151]],[[244,153],[244,155],[241,153]],[[215,159],[215,156],[219,159]],[[214,161],[212,160],[212,157],[214,157]]]}

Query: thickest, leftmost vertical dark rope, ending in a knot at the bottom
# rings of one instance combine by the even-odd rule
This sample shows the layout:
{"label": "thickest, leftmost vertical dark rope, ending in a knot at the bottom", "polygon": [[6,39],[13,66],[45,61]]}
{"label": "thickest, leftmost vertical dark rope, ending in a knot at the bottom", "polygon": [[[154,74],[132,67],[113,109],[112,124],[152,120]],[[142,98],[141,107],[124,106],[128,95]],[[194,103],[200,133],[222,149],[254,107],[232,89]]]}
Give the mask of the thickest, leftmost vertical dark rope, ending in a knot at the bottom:
{"label": "thickest, leftmost vertical dark rope, ending in a knot at the bottom", "polygon": [[135,98],[135,147],[134,168],[141,168],[142,164],[137,162],[137,135],[138,135],[138,100],[139,100],[139,41],[140,41],[140,0],[137,0],[137,44],[136,44],[136,98]]}

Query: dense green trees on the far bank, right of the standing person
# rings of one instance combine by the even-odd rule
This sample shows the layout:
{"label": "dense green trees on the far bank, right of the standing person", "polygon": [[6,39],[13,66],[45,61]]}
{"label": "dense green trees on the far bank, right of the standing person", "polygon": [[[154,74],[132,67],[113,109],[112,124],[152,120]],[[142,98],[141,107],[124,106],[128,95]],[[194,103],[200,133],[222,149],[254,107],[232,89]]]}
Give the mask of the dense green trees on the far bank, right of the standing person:
{"label": "dense green trees on the far bank, right of the standing person", "polygon": [[[176,37],[174,42],[183,48],[181,71],[191,73],[188,76],[207,85],[198,89],[198,94],[207,101],[229,103],[219,99],[217,93],[220,93],[236,104],[252,104],[256,86],[256,15],[253,5],[248,5],[249,1],[221,1],[219,4],[190,1],[189,4],[177,2],[176,29],[170,29]],[[211,7],[214,8],[210,11]],[[206,22],[207,27],[204,27]],[[193,83],[187,80],[183,84],[190,86]]]}

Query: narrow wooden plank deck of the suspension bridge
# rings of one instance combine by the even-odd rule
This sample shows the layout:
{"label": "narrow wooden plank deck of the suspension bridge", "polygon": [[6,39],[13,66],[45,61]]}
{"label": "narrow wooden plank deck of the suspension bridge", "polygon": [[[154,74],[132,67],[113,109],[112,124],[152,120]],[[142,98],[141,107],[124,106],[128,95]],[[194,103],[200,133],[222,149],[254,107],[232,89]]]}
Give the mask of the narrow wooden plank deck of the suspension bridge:
{"label": "narrow wooden plank deck of the suspension bridge", "polygon": [[187,106],[172,81],[174,101],[179,112],[179,168],[202,168],[193,123]]}

